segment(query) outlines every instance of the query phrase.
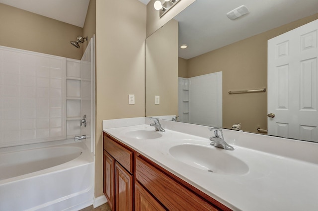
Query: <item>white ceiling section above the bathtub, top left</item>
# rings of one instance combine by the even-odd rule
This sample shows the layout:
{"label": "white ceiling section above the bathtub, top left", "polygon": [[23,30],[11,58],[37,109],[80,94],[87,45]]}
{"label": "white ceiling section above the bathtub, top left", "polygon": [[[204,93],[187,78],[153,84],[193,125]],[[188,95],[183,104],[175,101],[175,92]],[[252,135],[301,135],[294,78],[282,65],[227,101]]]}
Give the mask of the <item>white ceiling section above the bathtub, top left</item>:
{"label": "white ceiling section above the bathtub, top left", "polygon": [[89,0],[0,0],[0,3],[83,27]]}

